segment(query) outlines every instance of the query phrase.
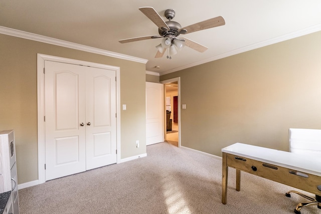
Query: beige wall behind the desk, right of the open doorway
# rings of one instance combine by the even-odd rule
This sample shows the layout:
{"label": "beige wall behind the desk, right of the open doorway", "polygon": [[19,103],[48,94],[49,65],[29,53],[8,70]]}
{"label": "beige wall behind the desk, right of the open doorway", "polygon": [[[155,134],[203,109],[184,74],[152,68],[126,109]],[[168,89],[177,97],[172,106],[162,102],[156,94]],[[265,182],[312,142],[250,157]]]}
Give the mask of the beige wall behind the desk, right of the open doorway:
{"label": "beige wall behind the desk, right of the open doorway", "polygon": [[289,128],[321,129],[320,41],[317,32],[161,76],[181,77],[182,146],[287,151]]}

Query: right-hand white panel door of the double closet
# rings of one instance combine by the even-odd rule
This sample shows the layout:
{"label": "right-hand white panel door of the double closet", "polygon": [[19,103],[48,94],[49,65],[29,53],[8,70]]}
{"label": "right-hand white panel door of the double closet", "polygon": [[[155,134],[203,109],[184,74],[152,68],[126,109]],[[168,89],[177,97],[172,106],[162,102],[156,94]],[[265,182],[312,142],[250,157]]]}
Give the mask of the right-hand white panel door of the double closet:
{"label": "right-hand white panel door of the double closet", "polygon": [[116,73],[86,68],[86,169],[116,163]]}

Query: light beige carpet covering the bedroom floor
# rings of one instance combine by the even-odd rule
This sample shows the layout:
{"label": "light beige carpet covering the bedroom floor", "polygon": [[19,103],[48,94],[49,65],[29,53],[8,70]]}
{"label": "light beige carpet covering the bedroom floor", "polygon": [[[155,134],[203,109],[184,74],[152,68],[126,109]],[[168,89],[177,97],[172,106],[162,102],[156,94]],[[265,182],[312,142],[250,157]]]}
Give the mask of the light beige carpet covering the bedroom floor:
{"label": "light beige carpet covering the bedroom floor", "polygon": [[147,146],[147,157],[21,189],[20,213],[294,213],[304,201],[286,197],[289,186],[245,172],[238,192],[229,169],[224,205],[221,176],[221,160],[163,142]]}

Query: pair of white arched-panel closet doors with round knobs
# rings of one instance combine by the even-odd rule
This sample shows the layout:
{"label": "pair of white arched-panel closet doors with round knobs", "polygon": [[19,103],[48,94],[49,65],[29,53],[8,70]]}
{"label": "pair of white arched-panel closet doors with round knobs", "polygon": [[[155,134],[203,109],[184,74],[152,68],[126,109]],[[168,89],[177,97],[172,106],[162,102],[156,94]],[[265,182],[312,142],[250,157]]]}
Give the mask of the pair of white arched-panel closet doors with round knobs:
{"label": "pair of white arched-panel closet doors with round knobs", "polygon": [[116,73],[45,61],[46,180],[116,162]]}

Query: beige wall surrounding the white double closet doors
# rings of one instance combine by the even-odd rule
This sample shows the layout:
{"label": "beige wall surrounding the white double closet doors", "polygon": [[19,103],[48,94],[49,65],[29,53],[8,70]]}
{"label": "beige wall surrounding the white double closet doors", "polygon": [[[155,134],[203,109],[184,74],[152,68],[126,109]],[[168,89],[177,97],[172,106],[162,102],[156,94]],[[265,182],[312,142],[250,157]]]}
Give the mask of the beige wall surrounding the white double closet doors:
{"label": "beige wall surrounding the white double closet doors", "polygon": [[0,41],[0,130],[15,129],[19,183],[38,179],[38,53],[120,67],[120,105],[127,110],[120,112],[118,149],[122,159],[146,152],[145,64],[2,34]]}

